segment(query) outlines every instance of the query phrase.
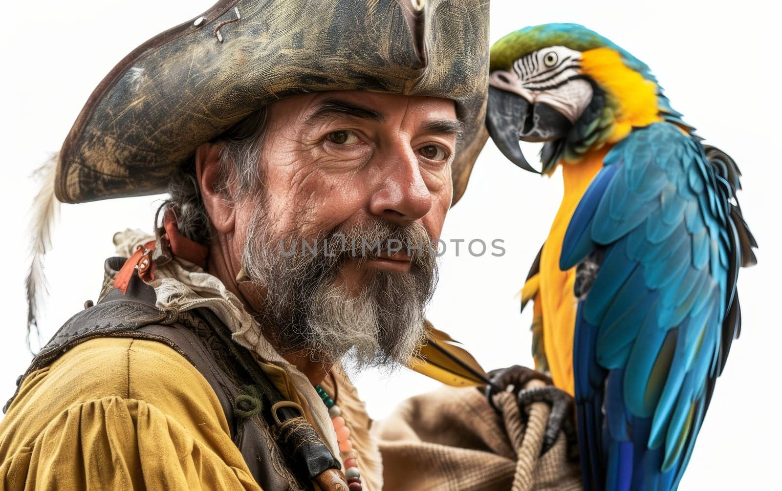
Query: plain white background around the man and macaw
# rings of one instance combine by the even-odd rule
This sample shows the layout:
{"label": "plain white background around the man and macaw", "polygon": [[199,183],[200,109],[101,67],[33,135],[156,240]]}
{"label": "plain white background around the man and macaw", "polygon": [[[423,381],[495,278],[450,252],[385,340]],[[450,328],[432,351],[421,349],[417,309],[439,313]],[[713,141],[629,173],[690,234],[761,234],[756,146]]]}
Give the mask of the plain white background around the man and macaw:
{"label": "plain white background around the man and macaw", "polygon": [[[2,29],[2,311],[0,396],[30,361],[24,343],[29,179],[59,149],[92,89],[132,48],[211,0],[12,2]],[[744,328],[719,379],[681,489],[764,489],[780,457],[777,367],[780,338],[780,10],[773,2],[520,2],[496,0],[491,41],[529,24],[577,22],[651,66],[673,107],[744,172],[741,205],[761,246],[759,266],[741,271]],[[528,152],[529,156],[533,156]],[[546,237],[561,179],[541,179],[508,163],[491,143],[465,198],[450,213],[444,239],[502,238],[503,257],[448,253],[429,310],[434,324],[464,342],[486,367],[531,365],[530,312],[515,293]],[[85,299],[95,299],[113,232],[152,225],[158,197],[64,205],[48,256],[51,298],[42,319],[48,339]],[[530,309],[531,310],[531,309]],[[375,418],[405,396],[438,386],[406,369],[367,372],[358,388]]]}

